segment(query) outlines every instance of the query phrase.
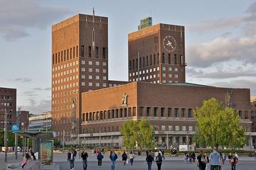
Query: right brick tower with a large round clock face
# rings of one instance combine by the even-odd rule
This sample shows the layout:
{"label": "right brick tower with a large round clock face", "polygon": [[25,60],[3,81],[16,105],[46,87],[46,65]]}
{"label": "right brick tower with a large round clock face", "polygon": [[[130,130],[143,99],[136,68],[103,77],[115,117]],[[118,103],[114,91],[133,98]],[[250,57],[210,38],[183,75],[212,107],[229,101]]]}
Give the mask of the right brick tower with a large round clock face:
{"label": "right brick tower with a large round clock face", "polygon": [[159,23],[129,33],[129,81],[185,82],[184,31],[183,26]]}

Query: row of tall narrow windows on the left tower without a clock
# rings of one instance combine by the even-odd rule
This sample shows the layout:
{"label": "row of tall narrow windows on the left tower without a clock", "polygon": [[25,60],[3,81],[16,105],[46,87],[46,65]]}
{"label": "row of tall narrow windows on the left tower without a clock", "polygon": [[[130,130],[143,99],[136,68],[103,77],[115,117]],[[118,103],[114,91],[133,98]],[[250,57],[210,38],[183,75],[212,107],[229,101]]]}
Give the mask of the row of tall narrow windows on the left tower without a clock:
{"label": "row of tall narrow windows on the left tower without a clock", "polygon": [[[85,52],[85,46],[81,45],[80,49],[78,49],[78,45],[76,47],[70,47],[70,49],[67,50],[63,50],[60,52],[55,52],[55,54],[53,54],[53,58],[52,58],[52,62],[53,64],[57,64],[60,62],[65,62],[68,60],[71,60],[75,57],[92,57],[92,54],[94,54],[95,58],[102,58],[105,59],[106,56],[106,48],[102,47],[102,51],[100,52],[100,48],[99,47],[91,47],[88,46],[87,47],[87,52]],[[79,55],[79,51],[80,51],[80,55]],[[101,55],[100,55],[101,53]]]}

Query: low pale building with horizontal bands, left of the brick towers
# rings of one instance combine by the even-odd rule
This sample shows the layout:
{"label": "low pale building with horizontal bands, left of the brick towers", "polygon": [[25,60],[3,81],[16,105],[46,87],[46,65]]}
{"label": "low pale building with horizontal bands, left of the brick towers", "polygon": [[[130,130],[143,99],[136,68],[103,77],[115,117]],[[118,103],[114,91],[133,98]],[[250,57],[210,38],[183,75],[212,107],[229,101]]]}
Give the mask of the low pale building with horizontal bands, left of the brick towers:
{"label": "low pale building with horizontal bands, left of the brick towers", "polygon": [[28,118],[28,130],[35,131],[50,131],[52,127],[52,115],[49,112],[43,113],[41,115],[31,115]]}

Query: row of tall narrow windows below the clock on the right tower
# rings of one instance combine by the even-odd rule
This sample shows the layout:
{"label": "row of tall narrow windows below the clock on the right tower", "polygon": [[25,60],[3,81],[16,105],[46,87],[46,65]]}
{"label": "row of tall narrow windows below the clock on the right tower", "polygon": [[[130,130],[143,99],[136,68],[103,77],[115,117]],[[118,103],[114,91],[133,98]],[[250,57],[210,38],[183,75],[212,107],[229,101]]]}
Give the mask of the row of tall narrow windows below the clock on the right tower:
{"label": "row of tall narrow windows below the clock on the right tower", "polygon": [[[134,57],[136,58],[136,57]],[[152,65],[155,65],[155,64],[159,64],[159,62],[165,64],[165,63],[168,63],[168,64],[184,64],[183,63],[183,56],[182,55],[179,55],[179,57],[174,54],[174,58],[173,58],[173,62],[171,62],[171,54],[168,54],[168,62],[166,62],[166,59],[165,59],[165,54],[162,53],[162,56],[161,56],[161,61],[159,61],[159,53],[154,54],[154,55],[149,55],[149,56],[146,56],[146,57],[139,57],[139,60],[138,58],[135,60],[129,60],[129,70],[132,70],[132,69],[138,69],[141,68],[141,67],[149,67],[149,66],[152,66]]]}

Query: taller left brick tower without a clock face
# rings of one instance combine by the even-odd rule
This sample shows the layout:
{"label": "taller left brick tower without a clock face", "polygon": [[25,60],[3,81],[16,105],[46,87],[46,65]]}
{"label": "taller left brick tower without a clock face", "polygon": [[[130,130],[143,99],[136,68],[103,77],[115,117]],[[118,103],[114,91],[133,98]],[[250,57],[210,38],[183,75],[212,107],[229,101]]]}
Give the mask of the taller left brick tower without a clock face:
{"label": "taller left brick tower without a clock face", "polygon": [[52,118],[60,140],[80,133],[82,92],[124,83],[108,80],[107,17],[78,14],[52,26]]}

